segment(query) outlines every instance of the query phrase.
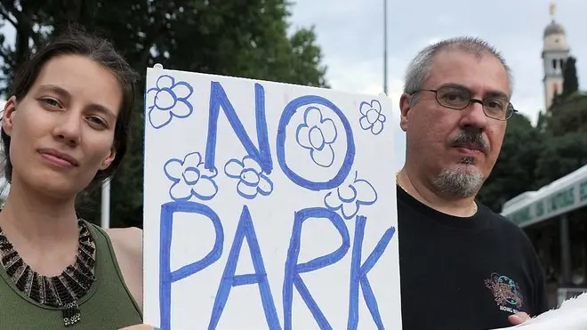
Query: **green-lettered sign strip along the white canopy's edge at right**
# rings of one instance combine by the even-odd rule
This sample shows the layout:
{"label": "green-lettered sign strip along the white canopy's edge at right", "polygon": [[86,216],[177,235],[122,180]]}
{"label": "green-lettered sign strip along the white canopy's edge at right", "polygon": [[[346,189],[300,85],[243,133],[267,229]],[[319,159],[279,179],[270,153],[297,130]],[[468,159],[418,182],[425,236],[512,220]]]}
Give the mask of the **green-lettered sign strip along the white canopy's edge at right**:
{"label": "green-lettered sign strip along the white canopy's edge at right", "polygon": [[520,227],[543,221],[587,205],[587,179],[577,181],[518,211],[506,215]]}

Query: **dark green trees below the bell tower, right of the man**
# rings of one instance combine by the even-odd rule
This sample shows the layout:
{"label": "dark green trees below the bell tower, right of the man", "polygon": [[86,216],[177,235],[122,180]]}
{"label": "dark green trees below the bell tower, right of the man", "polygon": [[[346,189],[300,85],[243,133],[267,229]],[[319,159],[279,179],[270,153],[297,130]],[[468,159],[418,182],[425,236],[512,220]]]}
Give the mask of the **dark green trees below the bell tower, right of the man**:
{"label": "dark green trees below the bell tower, right of the man", "polygon": [[501,212],[512,197],[540,189],[587,164],[587,95],[575,92],[540,113],[532,126],[525,117],[508,122],[495,168],[479,200]]}

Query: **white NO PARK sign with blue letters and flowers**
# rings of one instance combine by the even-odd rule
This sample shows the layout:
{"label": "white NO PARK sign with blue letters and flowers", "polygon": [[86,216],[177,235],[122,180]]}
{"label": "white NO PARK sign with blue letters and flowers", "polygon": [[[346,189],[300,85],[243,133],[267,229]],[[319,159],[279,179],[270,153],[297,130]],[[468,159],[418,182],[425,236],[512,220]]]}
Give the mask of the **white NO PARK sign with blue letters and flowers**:
{"label": "white NO PARK sign with blue letters and flowers", "polygon": [[401,328],[387,97],[149,68],[144,320]]}

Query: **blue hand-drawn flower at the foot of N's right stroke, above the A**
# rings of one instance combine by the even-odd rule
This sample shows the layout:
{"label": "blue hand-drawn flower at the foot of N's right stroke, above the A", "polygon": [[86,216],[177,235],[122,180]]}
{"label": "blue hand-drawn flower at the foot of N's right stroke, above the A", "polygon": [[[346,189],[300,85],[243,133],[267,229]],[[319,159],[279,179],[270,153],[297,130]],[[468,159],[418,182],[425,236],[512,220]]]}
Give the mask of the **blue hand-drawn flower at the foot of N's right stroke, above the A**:
{"label": "blue hand-drawn flower at the foot of N's right stroke, above the A", "polygon": [[224,173],[229,178],[238,179],[237,193],[246,199],[253,199],[258,193],[268,196],[273,191],[273,182],[253,157],[245,156],[242,161],[230,159],[224,165]]}

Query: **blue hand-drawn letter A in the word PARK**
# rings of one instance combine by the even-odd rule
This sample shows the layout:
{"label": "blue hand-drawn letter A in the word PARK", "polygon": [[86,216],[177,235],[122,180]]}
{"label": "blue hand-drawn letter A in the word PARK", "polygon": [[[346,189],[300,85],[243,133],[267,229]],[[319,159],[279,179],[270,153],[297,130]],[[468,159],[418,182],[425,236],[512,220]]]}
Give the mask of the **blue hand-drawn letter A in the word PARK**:
{"label": "blue hand-drawn letter A in the word PARK", "polygon": [[[249,245],[249,253],[253,260],[254,273],[235,275],[237,271],[238,257],[240,256],[240,249],[243,247],[245,239],[247,245]],[[271,288],[269,287],[269,280],[267,279],[267,272],[265,271],[265,264],[261,256],[261,247],[257,241],[257,234],[254,231],[253,219],[251,219],[249,208],[245,205],[243,206],[243,213],[240,215],[240,221],[238,221],[237,232],[232,241],[232,247],[230,247],[229,258],[226,262],[224,273],[222,274],[221,284],[218,288],[216,298],[214,299],[214,306],[208,330],[214,330],[216,329],[216,326],[218,326],[222,310],[224,310],[226,302],[229,300],[230,290],[234,286],[248,286],[253,284],[259,286],[261,303],[269,330],[281,330],[279,318],[277,318],[277,310],[275,308],[275,303],[273,302],[273,295],[271,294]]]}

